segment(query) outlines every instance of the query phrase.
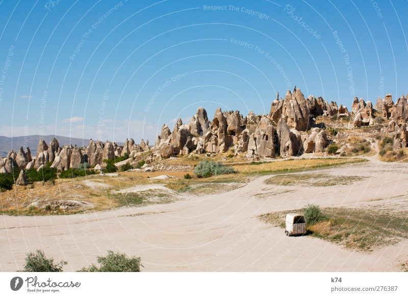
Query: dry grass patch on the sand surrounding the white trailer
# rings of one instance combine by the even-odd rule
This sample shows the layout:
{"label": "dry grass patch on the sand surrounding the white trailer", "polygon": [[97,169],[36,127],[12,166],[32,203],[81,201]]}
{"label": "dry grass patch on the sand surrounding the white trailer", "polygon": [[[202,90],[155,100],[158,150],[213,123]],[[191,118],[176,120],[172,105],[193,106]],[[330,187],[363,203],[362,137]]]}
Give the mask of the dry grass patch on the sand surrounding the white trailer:
{"label": "dry grass patch on the sand surrounding the white trailer", "polygon": [[[287,213],[303,210],[267,213],[259,218],[276,227],[285,228]],[[345,248],[372,252],[382,246],[408,238],[407,211],[390,211],[384,207],[323,208],[326,220],[308,226],[310,236],[328,240]]]}

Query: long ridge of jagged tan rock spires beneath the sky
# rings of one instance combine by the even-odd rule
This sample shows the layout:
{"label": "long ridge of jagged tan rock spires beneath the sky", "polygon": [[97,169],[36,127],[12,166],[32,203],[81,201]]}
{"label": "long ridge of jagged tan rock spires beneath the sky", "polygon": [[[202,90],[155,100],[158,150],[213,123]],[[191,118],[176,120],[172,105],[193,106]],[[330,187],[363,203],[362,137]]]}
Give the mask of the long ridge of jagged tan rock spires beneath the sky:
{"label": "long ridge of jagged tan rock spires beneath the sky", "polygon": [[119,165],[134,165],[142,160],[146,170],[151,170],[151,164],[156,161],[177,155],[216,156],[230,152],[232,157],[246,160],[299,156],[322,153],[328,144],[338,142],[338,137],[332,137],[335,134],[328,133],[335,128],[343,129],[343,136],[347,136],[347,131],[355,134],[353,129],[376,125],[379,125],[377,132],[388,136],[387,143],[392,142],[392,150],[398,151],[408,145],[407,119],[408,102],[403,95],[394,104],[392,96],[387,94],[384,99],[378,98],[375,107],[370,101],[355,97],[349,112],[347,107],[329,103],[322,97],[305,98],[295,87],[293,92],[287,91],[285,98],[277,94],[268,115],[250,111],[243,116],[239,111],[218,108],[209,120],[207,111],[200,107],[188,123],[178,119],[173,131],[163,125],[153,147],[143,139],[140,144],[126,139],[123,145],[91,139],[87,146],[81,147],[62,146],[56,138],[48,144],[40,139],[35,158],[29,148],[24,151],[21,147],[17,153],[10,151],[0,159],[0,172],[11,172],[13,167],[39,169],[48,162],[60,171],[78,168],[85,162],[99,169],[106,166],[105,159],[124,156],[129,158]]}

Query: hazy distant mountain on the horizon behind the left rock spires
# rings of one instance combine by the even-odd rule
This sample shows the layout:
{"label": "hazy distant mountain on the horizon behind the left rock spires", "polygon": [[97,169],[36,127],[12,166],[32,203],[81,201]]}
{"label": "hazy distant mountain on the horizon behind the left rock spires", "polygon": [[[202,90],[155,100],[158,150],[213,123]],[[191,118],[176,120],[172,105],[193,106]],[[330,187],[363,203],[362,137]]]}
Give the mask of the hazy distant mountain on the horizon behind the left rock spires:
{"label": "hazy distant mountain on the horizon behind the left rock spires", "polygon": [[[49,141],[53,138],[57,138],[60,146],[65,144],[72,144],[73,146],[87,146],[89,143],[89,139],[81,139],[81,138],[69,138],[65,136],[55,136],[55,135],[46,135],[42,138],[48,144]],[[40,140],[40,135],[29,135],[29,136],[17,136],[17,137],[6,137],[0,136],[0,157],[7,156],[7,153],[11,150],[17,152],[20,147],[30,147],[31,154],[35,157],[37,152],[38,141]]]}

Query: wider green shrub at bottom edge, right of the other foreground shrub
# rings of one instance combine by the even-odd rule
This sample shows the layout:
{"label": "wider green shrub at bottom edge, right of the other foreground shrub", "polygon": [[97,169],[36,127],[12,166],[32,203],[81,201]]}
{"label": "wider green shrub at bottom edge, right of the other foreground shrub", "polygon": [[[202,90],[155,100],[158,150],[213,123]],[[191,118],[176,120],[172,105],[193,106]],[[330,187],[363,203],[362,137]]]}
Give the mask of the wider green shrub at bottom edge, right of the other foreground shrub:
{"label": "wider green shrub at bottom edge, right of the other foreground shrub", "polygon": [[113,253],[108,251],[106,257],[97,257],[100,264],[97,267],[92,264],[88,268],[83,267],[80,272],[140,272],[141,259],[139,257],[127,257],[126,254]]}

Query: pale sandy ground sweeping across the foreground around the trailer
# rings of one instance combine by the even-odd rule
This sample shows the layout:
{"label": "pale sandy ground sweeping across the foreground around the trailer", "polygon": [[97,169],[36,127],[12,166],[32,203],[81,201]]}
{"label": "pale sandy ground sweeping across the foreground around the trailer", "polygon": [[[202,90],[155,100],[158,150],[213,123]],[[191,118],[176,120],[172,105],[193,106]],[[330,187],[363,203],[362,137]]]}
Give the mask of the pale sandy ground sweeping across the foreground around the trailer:
{"label": "pale sandy ground sweeping across the foreground around the trailer", "polygon": [[21,269],[25,253],[43,249],[68,261],[65,271],[95,263],[107,250],[140,256],[143,271],[400,271],[408,259],[408,240],[365,254],[313,237],[287,237],[257,218],[308,203],[362,207],[382,202],[408,208],[408,164],[370,159],[315,171],[333,178],[367,177],[349,185],[266,185],[271,176],[262,176],[230,192],[185,195],[171,204],[66,216],[2,216],[0,270]]}

